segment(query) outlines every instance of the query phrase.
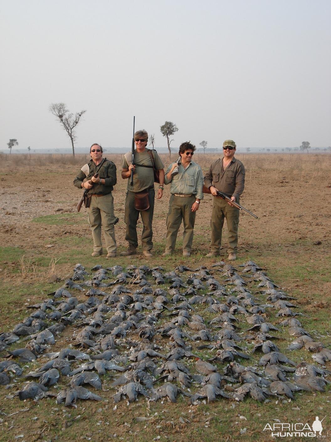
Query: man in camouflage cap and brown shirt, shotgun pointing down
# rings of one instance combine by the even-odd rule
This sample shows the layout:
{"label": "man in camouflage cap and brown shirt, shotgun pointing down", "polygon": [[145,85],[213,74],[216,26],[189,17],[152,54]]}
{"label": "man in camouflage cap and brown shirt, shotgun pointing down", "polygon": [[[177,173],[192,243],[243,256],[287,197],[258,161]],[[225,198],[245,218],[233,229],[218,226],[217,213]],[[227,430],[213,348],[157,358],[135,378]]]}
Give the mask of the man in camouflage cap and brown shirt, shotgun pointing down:
{"label": "man in camouflage cap and brown shirt, shotgun pointing down", "polygon": [[222,191],[232,201],[239,202],[239,197],[244,191],[245,168],[244,165],[234,158],[236,143],[226,140],[223,143],[223,158],[214,161],[207,172],[204,183],[213,198],[213,210],[211,212],[211,251],[208,257],[217,256],[220,253],[222,241],[222,228],[224,218],[228,226],[229,260],[237,258],[239,209],[231,206],[224,199],[216,196],[216,191]]}

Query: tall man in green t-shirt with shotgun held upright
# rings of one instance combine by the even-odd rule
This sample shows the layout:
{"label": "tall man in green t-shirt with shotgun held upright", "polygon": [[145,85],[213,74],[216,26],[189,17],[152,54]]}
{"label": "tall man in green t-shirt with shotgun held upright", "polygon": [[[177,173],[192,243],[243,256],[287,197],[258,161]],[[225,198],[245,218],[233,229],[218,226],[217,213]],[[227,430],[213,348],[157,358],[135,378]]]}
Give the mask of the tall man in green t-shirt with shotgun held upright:
{"label": "tall man in green t-shirt with shotgun held upright", "polygon": [[[138,247],[137,221],[139,213],[143,221],[143,233],[141,236],[141,246],[143,255],[152,256],[153,248],[153,230],[152,221],[154,213],[154,171],[152,159],[153,155],[155,168],[159,171],[160,186],[158,188],[157,198],[162,198],[164,184],[164,164],[155,150],[146,149],[148,133],[146,130],[137,130],[134,134],[135,152],[134,164],[131,164],[132,152],[124,155],[121,176],[128,179],[127,194],[125,198],[124,221],[126,224],[125,239],[128,241],[128,250],[121,252],[122,256],[135,255]],[[131,171],[133,170],[133,185],[131,186]],[[135,208],[135,194],[147,192],[149,208],[147,210],[137,210]]]}

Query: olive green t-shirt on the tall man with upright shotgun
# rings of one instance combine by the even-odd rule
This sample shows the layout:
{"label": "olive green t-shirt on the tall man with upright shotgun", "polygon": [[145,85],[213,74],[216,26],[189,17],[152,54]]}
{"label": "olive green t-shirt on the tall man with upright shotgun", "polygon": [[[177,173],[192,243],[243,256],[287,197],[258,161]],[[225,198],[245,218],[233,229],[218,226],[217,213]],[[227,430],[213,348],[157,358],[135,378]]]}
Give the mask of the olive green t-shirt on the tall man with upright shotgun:
{"label": "olive green t-shirt on the tall man with upright shotgun", "polygon": [[[163,169],[164,164],[162,163],[161,158],[158,156],[158,152],[156,152],[155,150],[152,150],[151,152],[154,157],[155,168]],[[127,152],[124,155],[122,164],[123,169],[129,168],[129,165],[131,164],[131,158],[131,152]],[[137,164],[143,164],[144,166],[153,166],[153,164],[147,149],[143,152],[137,152],[135,150],[134,158],[136,167],[133,174],[133,186],[131,186],[130,184],[131,178],[129,177],[127,189],[131,192],[140,192],[147,189],[147,187],[154,185],[154,171],[151,167],[140,167]]]}

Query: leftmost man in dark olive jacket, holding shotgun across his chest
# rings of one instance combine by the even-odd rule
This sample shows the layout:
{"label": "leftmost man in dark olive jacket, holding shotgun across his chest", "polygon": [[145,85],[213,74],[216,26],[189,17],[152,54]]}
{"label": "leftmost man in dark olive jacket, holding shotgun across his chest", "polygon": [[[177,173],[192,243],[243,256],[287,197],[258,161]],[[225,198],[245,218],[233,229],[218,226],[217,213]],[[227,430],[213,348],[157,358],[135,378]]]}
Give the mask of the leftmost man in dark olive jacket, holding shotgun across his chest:
{"label": "leftmost man in dark olive jacket, holding shotgun across his chest", "polygon": [[[116,166],[112,161],[105,159],[102,163],[102,147],[94,143],[90,147],[91,160],[85,164],[74,179],[74,185],[79,189],[87,189],[91,196],[89,207],[89,219],[93,238],[92,256],[102,255],[101,225],[105,235],[107,258],[116,256],[116,240],[114,224],[118,218],[114,216],[113,186],[117,182]],[[102,163],[98,177],[94,174]],[[90,184],[89,181],[94,184]]]}

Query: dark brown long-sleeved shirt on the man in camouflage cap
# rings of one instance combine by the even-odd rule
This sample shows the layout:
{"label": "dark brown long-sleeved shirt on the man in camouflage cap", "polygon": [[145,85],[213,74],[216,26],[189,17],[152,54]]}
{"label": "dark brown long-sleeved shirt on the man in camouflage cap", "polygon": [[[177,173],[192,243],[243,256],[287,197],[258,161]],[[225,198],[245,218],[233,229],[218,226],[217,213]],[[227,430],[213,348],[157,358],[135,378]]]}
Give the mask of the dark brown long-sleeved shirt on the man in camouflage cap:
{"label": "dark brown long-sleeved shirt on the man in camouflage cap", "polygon": [[234,158],[226,169],[223,168],[223,158],[214,161],[207,172],[204,182],[206,187],[214,186],[218,191],[224,192],[227,196],[239,200],[244,191],[245,168],[241,161]]}

